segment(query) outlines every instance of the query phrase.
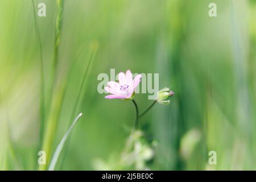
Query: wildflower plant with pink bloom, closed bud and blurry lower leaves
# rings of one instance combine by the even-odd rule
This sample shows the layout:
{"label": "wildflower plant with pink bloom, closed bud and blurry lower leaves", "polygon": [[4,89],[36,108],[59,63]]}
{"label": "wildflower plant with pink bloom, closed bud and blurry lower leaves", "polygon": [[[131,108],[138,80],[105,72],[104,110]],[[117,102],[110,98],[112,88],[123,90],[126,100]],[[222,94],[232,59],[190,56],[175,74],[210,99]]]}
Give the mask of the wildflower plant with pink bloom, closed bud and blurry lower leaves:
{"label": "wildflower plant with pink bloom, closed bud and blurry lower leaves", "polygon": [[[139,108],[137,102],[135,101],[135,89],[141,82],[141,75],[135,76],[133,79],[132,73],[130,70],[127,70],[126,73],[120,72],[118,74],[118,81],[109,81],[108,86],[105,87],[106,92],[110,93],[110,95],[105,96],[108,99],[120,99],[132,101],[135,106],[136,117],[133,126],[133,130],[131,130],[131,134],[129,139],[126,142],[125,149],[122,152],[121,159],[115,164],[119,166],[134,166],[135,169],[144,170],[148,169],[146,166],[146,162],[151,160],[154,156],[154,144],[148,144],[145,142],[144,133],[139,130],[139,119],[158,102],[159,104],[170,104],[170,98],[174,96],[174,92],[172,92],[169,88],[163,88],[159,90],[158,96],[152,102],[150,106],[147,107],[142,113],[139,113]],[[110,167],[112,164],[108,165],[103,162],[98,162],[97,164],[102,164],[100,166],[96,166],[98,169],[102,169],[102,166],[105,166],[104,169],[120,169]],[[123,168],[121,168],[123,169]],[[129,169],[129,168],[125,168]]]}

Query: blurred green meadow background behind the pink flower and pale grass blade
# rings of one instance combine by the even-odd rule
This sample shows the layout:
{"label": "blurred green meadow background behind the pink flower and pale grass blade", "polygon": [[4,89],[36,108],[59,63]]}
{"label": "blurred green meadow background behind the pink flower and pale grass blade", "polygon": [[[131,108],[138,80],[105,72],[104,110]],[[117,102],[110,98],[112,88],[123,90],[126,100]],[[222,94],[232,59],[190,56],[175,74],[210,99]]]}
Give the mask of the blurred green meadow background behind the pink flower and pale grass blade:
{"label": "blurred green meadow background behind the pink flower and pale grass blade", "polygon": [[[0,0],[1,170],[40,169],[46,135],[52,154],[80,112],[56,169],[127,169],[114,166],[134,106],[97,92],[111,68],[159,73],[159,88],[175,92],[140,121],[144,142],[156,143],[147,168],[256,169],[256,1],[65,0],[61,11],[35,0],[36,13],[40,2],[46,17],[30,0]],[[140,110],[152,102],[135,99]]]}

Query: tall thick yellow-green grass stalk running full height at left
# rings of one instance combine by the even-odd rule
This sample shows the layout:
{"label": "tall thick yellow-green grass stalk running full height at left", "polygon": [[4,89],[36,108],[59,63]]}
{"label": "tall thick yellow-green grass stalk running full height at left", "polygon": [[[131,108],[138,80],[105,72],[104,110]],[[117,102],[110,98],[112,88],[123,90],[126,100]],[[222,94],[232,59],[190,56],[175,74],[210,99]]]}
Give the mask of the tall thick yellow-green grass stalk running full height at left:
{"label": "tall thick yellow-green grass stalk running full height at left", "polygon": [[61,105],[63,104],[64,90],[67,82],[57,81],[57,65],[59,60],[59,46],[60,46],[60,35],[63,22],[63,10],[64,10],[64,0],[56,0],[57,3],[57,16],[56,16],[56,26],[55,26],[55,44],[53,50],[53,61],[51,70],[51,95],[49,98],[49,111],[48,111],[48,121],[46,126],[46,131],[43,140],[43,150],[46,152],[46,165],[39,166],[39,170],[46,170],[49,164],[49,159],[51,158],[52,145],[54,138],[56,136],[57,121],[59,119],[59,114],[61,110]]}

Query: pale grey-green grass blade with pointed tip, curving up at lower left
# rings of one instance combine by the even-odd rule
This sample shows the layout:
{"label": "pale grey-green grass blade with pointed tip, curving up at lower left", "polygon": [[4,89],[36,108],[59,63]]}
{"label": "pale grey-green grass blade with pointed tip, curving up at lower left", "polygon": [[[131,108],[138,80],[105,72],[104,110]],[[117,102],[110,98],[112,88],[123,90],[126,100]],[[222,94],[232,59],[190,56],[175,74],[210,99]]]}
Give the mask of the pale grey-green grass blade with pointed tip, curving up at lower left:
{"label": "pale grey-green grass blade with pointed tip, curving up at lower left", "polygon": [[75,120],[73,121],[72,125],[69,127],[67,133],[65,133],[64,137],[61,139],[59,145],[56,148],[56,151],[53,155],[53,158],[51,160],[51,163],[49,165],[49,171],[53,171],[55,168],[55,165],[57,163],[57,160],[59,159],[60,156],[60,152],[64,147],[64,144],[66,142],[66,140],[68,139],[69,134],[71,133],[73,127],[76,125],[77,121],[79,120],[79,118],[82,116],[82,113],[80,113],[79,115],[77,115],[77,117],[75,118]]}

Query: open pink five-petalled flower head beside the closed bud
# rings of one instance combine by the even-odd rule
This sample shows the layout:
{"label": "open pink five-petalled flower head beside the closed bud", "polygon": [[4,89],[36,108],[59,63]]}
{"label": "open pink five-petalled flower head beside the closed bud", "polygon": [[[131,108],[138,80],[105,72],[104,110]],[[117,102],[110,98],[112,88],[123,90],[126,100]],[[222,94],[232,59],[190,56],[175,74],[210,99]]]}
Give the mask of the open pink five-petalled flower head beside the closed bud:
{"label": "open pink five-petalled flower head beside the closed bud", "polygon": [[126,73],[120,72],[118,74],[118,82],[109,81],[108,86],[105,87],[106,92],[111,93],[111,95],[106,96],[105,98],[113,99],[130,99],[133,97],[135,88],[141,82],[141,75],[137,75],[133,80],[133,75],[131,71],[127,70]]}

